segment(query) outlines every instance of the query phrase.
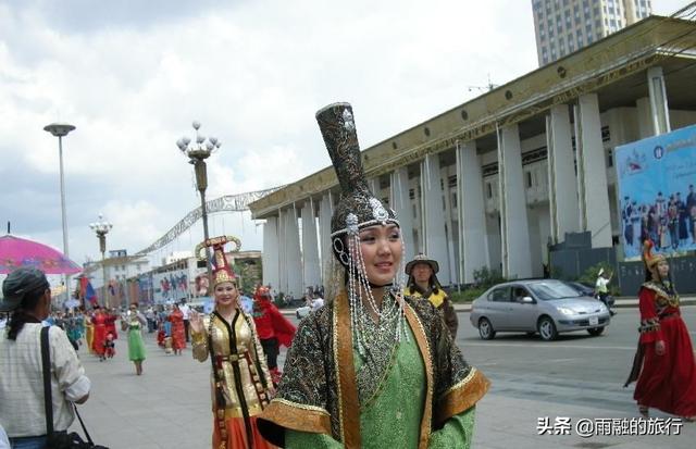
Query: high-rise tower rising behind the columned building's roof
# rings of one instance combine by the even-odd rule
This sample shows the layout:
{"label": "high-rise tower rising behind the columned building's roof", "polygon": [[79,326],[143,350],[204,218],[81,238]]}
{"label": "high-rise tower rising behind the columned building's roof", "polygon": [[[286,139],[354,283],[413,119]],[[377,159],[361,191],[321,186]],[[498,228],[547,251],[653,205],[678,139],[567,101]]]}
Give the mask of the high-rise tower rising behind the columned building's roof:
{"label": "high-rise tower rising behind the columned building's roof", "polygon": [[536,53],[546,65],[650,15],[650,0],[532,0]]}

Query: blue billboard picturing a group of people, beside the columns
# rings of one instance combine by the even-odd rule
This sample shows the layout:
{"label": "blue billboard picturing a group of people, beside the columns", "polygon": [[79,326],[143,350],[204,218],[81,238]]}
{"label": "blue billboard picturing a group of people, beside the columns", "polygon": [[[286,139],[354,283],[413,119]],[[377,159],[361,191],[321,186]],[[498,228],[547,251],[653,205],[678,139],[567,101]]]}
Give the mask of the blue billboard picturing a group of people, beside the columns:
{"label": "blue billboard picturing a group of people, beside the columns", "polygon": [[696,250],[696,125],[616,149],[624,257]]}

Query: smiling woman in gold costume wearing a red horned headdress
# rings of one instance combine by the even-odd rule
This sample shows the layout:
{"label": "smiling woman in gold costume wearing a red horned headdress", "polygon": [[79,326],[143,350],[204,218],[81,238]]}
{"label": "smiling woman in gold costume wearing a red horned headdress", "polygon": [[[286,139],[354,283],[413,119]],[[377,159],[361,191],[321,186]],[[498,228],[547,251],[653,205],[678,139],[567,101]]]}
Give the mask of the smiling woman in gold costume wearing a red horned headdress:
{"label": "smiling woman in gold costume wearing a red horned headdress", "polygon": [[275,390],[253,320],[239,307],[237,280],[224,253],[226,242],[236,244],[239,250],[239,240],[231,236],[211,238],[199,246],[213,247],[215,310],[204,319],[191,311],[190,317],[194,358],[199,362],[210,359],[212,364],[212,447],[273,448],[259,434],[257,416]]}

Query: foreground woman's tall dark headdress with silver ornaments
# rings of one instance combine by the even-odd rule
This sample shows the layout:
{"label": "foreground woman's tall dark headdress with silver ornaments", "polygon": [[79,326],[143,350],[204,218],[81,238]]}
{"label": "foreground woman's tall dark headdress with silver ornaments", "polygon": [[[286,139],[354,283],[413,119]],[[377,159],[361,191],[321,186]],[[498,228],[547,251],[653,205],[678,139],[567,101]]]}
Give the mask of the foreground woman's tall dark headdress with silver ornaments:
{"label": "foreground woman's tall dark headdress with silver ornaments", "polygon": [[348,266],[344,245],[346,234],[355,235],[375,224],[399,224],[396,213],[386,208],[368,188],[362,169],[358,133],[349,103],[333,103],[316,112],[316,122],[338,177],[341,197],[331,220],[334,254]]}

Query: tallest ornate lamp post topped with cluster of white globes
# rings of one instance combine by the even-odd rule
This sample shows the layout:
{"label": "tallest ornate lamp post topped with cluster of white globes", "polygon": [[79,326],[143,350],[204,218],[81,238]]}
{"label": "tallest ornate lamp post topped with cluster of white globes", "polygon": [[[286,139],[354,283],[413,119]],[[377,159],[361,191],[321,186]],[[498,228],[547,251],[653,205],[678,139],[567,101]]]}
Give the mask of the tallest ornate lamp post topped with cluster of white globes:
{"label": "tallest ornate lamp post topped with cluster of white globes", "polygon": [[[220,148],[222,144],[215,137],[206,138],[206,136],[199,134],[200,122],[194,122],[192,126],[196,129],[196,141],[191,142],[190,138],[182,137],[176,141],[176,146],[188,158],[188,163],[194,165],[196,170],[196,186],[200,192],[200,208],[203,219],[203,237],[208,240],[210,236],[208,235],[208,209],[206,208],[206,189],[208,188],[206,159],[210,158],[210,154]],[[206,246],[206,266],[208,267],[208,282],[212,286],[213,273],[210,267],[210,247],[208,246]]]}

